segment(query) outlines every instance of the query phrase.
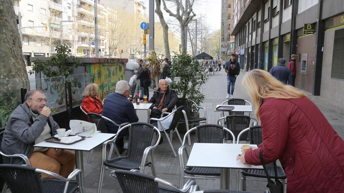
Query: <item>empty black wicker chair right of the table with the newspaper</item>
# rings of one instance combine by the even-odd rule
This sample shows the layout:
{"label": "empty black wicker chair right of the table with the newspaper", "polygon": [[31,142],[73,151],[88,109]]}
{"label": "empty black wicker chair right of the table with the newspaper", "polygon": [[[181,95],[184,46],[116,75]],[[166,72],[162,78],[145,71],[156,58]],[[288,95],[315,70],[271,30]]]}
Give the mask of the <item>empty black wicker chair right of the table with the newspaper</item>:
{"label": "empty black wicker chair right of the table with the newspaper", "polygon": [[[116,146],[116,139],[124,129],[129,129],[129,145],[127,155],[124,157],[117,157],[114,159],[111,159],[110,157],[106,159],[106,146],[110,143],[113,146]],[[158,139],[155,145],[152,146],[151,143],[154,132],[157,132]],[[104,170],[106,166],[109,167],[110,170],[139,170],[141,173],[144,173],[145,166],[150,166],[153,175],[156,176],[152,150],[159,145],[160,138],[161,133],[159,129],[149,123],[131,123],[118,129],[118,132],[113,140],[111,139],[103,143],[103,154],[101,160],[97,193],[101,192],[104,178]],[[147,160],[149,152],[151,152],[151,161]]]}

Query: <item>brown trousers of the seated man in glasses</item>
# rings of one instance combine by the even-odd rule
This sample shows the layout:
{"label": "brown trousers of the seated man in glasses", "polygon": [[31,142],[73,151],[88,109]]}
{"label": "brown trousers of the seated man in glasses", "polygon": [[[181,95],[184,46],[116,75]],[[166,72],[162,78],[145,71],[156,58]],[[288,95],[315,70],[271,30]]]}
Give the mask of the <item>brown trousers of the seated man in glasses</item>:
{"label": "brown trousers of the seated man in glasses", "polygon": [[[29,161],[31,166],[42,170],[51,171],[67,178],[74,170],[75,154],[73,151],[63,149],[58,156],[54,155],[55,149],[49,148],[47,151],[32,152]],[[42,174],[42,179],[49,178],[49,175]],[[50,177],[52,178],[52,177]]]}

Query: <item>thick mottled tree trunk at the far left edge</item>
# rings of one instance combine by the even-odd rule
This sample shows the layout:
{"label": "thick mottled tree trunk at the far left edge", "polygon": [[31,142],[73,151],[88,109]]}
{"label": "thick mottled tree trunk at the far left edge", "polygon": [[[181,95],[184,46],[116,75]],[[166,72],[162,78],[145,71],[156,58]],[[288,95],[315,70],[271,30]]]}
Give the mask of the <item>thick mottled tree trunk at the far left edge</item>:
{"label": "thick mottled tree trunk at the far left edge", "polygon": [[11,0],[0,3],[0,79],[28,80],[17,21]]}

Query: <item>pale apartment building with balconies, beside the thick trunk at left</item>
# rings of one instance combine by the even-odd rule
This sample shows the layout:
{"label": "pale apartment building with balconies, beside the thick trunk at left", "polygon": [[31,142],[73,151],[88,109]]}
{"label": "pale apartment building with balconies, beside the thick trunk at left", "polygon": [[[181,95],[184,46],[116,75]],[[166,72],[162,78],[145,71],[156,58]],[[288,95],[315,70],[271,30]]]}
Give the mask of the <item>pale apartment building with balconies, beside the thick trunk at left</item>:
{"label": "pale apartment building with balconies, beside the thick trunk at left", "polygon": [[[31,65],[30,57],[49,57],[56,45],[62,41],[73,46],[77,37],[73,21],[76,14],[76,0],[13,0],[18,23],[21,22],[23,54]],[[19,14],[21,17],[19,18]],[[44,26],[48,26],[45,30]]]}

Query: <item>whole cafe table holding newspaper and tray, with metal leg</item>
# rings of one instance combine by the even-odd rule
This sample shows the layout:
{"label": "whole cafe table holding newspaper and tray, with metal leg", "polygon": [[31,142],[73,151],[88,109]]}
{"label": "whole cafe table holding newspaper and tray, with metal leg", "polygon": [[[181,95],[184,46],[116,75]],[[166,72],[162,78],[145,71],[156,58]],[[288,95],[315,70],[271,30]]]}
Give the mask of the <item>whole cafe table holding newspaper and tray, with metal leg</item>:
{"label": "whole cafe table holding newspaper and tray, with metal leg", "polygon": [[[83,151],[90,151],[100,144],[103,144],[108,139],[114,137],[116,134],[111,133],[98,133],[93,137],[85,138],[84,140],[78,141],[74,144],[65,145],[57,144],[43,141],[39,144],[34,145],[34,147],[44,147],[44,148],[56,148],[56,149],[69,149],[75,150],[75,167],[77,169],[84,171],[83,163]],[[79,182],[80,192],[84,191],[84,176],[82,173],[78,174],[77,181]]]}

